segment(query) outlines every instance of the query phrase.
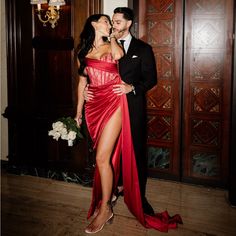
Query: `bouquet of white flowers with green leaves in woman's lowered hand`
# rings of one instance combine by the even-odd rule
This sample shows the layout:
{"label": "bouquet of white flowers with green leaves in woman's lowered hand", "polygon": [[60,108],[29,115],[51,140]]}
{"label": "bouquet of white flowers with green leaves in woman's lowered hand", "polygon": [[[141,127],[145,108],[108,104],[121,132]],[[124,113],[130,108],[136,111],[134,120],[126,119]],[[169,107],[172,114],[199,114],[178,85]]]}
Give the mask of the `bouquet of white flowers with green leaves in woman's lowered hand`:
{"label": "bouquet of white flowers with green leaves in woman's lowered hand", "polygon": [[82,139],[83,135],[80,133],[80,128],[76,121],[71,117],[61,117],[52,124],[52,130],[48,132],[49,136],[57,140],[67,140],[68,146],[73,146],[76,140]]}

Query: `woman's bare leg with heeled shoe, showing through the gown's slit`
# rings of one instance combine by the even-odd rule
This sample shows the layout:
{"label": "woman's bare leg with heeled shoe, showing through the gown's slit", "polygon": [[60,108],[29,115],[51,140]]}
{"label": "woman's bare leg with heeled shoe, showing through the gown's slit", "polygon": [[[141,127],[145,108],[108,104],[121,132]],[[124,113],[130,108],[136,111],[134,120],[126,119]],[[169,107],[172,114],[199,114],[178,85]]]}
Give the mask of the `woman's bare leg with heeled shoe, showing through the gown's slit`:
{"label": "woman's bare leg with heeled shoe, showing through the gown's slit", "polygon": [[113,172],[110,159],[120,131],[121,109],[118,108],[107,122],[97,146],[96,164],[101,178],[102,203],[98,215],[86,228],[90,232],[100,229],[112,215],[111,207],[108,205],[111,200],[113,185]]}

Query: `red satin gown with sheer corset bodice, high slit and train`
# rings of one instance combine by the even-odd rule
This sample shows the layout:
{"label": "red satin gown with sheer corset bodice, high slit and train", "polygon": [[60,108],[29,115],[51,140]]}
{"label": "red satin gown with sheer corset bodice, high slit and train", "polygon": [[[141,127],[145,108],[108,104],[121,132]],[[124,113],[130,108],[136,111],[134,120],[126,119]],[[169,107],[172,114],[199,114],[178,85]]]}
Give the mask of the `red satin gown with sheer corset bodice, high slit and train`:
{"label": "red satin gown with sheer corset bodice, high slit and train", "polygon": [[[176,228],[178,223],[182,223],[179,215],[170,217],[165,211],[157,213],[155,216],[149,216],[143,212],[126,95],[118,96],[112,91],[113,85],[121,83],[117,61],[112,59],[111,54],[104,55],[100,60],[86,58],[86,71],[90,80],[89,89],[93,92],[94,98],[85,104],[85,118],[94,149],[112,114],[118,107],[121,107],[122,111],[122,130],[112,154],[113,189],[117,186],[122,154],[124,201],[131,213],[146,228],[154,228],[163,232]],[[96,208],[99,208],[101,199],[100,175],[96,167],[88,218],[93,215]]]}

